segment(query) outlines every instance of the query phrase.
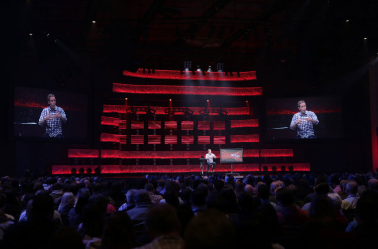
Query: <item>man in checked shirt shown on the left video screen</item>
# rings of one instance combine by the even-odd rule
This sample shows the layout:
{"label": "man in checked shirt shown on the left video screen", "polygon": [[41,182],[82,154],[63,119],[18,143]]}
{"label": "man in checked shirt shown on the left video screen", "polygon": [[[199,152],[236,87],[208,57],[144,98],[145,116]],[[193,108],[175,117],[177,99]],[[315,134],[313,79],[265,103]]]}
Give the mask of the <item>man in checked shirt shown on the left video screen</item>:
{"label": "man in checked shirt shown on the left video screen", "polygon": [[39,117],[39,126],[46,124],[46,133],[43,135],[45,138],[64,138],[62,132],[62,122],[67,122],[66,113],[64,110],[56,106],[55,95],[50,93],[47,95],[47,103],[49,107],[42,110]]}

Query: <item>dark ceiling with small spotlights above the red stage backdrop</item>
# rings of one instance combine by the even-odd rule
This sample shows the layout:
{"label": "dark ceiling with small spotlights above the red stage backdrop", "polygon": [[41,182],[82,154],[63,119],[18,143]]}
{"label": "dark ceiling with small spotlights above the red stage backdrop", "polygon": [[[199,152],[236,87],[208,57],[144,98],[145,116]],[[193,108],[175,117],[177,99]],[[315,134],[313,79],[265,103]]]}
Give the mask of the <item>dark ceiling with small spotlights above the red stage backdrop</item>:
{"label": "dark ceiling with small spotlights above the red stage backdrop", "polygon": [[[24,61],[17,66],[44,65],[51,74],[58,71],[51,65],[66,67],[71,75],[83,72],[83,61],[119,74],[141,67],[181,70],[191,60],[193,67],[223,62],[227,71],[256,70],[266,81],[312,87],[336,81],[378,52],[377,0],[5,0],[2,5],[8,24],[4,44]],[[71,59],[64,62],[62,54]]]}

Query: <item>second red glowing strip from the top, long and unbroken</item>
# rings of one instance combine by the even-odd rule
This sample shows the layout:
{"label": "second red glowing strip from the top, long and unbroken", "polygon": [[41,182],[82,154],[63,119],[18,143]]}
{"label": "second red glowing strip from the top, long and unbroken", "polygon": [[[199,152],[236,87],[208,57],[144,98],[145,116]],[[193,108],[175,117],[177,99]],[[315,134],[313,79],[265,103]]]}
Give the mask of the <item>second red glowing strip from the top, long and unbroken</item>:
{"label": "second red glowing strip from the top, long and unbroken", "polygon": [[113,83],[113,92],[141,94],[190,94],[219,96],[258,96],[263,95],[262,87],[212,87],[186,85],[137,85]]}

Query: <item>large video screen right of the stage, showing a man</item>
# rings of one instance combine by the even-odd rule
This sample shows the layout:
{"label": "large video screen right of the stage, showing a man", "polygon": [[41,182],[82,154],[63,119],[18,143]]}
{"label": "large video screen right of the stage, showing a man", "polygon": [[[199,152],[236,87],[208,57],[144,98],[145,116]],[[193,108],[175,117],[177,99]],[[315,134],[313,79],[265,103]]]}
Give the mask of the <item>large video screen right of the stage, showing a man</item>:
{"label": "large video screen right of the stage, showing a man", "polygon": [[267,140],[343,137],[340,96],[267,99],[266,111]]}

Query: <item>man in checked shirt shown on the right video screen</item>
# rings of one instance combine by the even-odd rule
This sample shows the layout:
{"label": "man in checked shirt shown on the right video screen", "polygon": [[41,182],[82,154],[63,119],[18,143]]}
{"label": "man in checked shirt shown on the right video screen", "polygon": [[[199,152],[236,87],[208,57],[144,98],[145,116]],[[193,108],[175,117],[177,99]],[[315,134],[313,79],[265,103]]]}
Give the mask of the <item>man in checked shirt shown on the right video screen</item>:
{"label": "man in checked shirt shown on the right video screen", "polygon": [[295,113],[291,119],[290,129],[297,130],[295,139],[316,138],[314,134],[314,125],[319,124],[319,120],[315,113],[306,110],[306,102],[300,100],[298,102],[299,112]]}

